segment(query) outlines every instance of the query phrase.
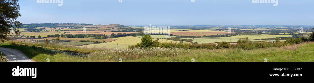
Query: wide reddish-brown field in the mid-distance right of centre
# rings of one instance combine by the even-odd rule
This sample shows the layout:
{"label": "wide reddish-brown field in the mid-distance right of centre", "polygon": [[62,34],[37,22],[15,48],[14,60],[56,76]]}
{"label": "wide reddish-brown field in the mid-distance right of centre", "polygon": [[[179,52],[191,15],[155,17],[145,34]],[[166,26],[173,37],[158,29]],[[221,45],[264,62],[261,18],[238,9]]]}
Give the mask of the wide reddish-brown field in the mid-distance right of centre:
{"label": "wide reddish-brown field in the mid-distance right of centre", "polygon": [[[228,32],[172,32],[170,33],[172,35],[185,35],[185,36],[203,36],[203,35],[226,35]],[[235,34],[235,33],[229,33],[229,34]]]}

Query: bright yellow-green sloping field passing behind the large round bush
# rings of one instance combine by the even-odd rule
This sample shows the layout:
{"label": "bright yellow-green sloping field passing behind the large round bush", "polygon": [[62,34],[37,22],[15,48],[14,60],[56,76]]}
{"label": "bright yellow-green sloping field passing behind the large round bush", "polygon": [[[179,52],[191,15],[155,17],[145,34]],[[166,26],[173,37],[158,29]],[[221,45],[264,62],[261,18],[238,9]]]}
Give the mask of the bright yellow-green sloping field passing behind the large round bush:
{"label": "bright yellow-green sloping field passing behind the large round bush", "polygon": [[[92,44],[93,46],[106,46],[106,48],[128,48],[129,45],[135,45],[137,43],[141,43],[142,39],[133,36],[127,37],[119,37],[119,38],[112,38],[117,39],[112,42],[101,43],[101,44]],[[156,39],[153,39],[156,40]],[[180,43],[179,41],[167,40],[167,39],[159,39],[158,42],[173,42],[173,43]],[[190,44],[189,42],[183,42],[184,44]],[[84,45],[90,47],[91,45]],[[80,47],[84,47],[80,46]],[[98,48],[98,47],[95,47]]]}

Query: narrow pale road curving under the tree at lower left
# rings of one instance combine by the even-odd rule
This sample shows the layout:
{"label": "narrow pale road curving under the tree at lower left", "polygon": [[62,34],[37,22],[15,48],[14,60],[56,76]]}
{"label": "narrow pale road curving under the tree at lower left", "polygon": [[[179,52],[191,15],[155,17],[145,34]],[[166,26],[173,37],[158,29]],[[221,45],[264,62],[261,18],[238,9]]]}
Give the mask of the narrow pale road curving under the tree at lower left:
{"label": "narrow pale road curving under the tree at lower left", "polygon": [[9,62],[34,62],[28,58],[22,51],[12,48],[0,48],[0,52],[9,59]]}

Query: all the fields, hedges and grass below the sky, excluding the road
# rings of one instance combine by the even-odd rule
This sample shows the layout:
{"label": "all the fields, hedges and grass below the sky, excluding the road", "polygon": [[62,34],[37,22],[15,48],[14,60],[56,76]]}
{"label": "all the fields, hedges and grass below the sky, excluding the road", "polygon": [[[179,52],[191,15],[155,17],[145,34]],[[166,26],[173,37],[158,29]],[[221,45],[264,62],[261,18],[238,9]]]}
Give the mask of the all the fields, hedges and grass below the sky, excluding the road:
{"label": "all the fields, hedges and grass below the sky, excluding the road", "polygon": [[144,26],[22,24],[20,34],[7,35],[0,47],[21,50],[38,62],[307,62],[314,58],[312,27],[178,25],[166,36]]}

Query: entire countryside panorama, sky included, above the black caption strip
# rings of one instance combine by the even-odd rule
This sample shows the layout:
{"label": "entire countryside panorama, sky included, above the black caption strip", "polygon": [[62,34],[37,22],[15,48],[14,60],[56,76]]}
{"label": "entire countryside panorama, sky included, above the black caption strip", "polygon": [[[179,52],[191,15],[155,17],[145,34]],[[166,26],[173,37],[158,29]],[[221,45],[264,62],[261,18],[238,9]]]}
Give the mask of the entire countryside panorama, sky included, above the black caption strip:
{"label": "entire countryside panorama, sky included, above the black caption strip", "polygon": [[313,2],[0,0],[0,62],[313,62]]}

